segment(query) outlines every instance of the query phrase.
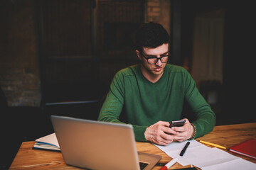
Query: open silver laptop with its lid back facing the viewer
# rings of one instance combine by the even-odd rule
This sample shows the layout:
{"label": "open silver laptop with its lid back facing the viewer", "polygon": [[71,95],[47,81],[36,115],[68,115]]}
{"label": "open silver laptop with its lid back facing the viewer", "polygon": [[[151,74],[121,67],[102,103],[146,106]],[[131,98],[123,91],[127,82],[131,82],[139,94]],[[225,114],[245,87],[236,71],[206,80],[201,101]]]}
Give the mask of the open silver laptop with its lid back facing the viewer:
{"label": "open silver laptop with its lid back facing the viewer", "polygon": [[149,170],[161,159],[137,152],[132,125],[58,115],[50,118],[66,164],[85,169]]}

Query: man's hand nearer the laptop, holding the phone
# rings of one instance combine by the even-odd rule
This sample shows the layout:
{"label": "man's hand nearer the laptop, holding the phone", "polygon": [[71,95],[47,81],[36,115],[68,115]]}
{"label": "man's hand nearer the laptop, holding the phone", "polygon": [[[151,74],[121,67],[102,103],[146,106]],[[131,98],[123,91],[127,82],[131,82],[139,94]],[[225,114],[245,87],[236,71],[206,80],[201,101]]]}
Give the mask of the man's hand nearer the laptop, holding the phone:
{"label": "man's hand nearer the laptop, holding the phone", "polygon": [[[154,142],[158,145],[168,145],[169,143],[173,142],[174,137],[180,132],[172,130],[169,128],[169,125],[169,122],[159,121],[154,125],[149,126],[144,132],[146,140]],[[177,137],[179,138],[179,135]]]}

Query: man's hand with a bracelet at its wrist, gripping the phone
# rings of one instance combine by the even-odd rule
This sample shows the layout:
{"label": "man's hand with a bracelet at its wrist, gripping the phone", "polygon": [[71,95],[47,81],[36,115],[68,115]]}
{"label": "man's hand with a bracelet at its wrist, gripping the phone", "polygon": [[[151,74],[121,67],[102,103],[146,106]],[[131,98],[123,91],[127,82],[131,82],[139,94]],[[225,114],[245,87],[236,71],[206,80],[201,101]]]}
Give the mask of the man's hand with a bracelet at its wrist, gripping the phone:
{"label": "man's hand with a bracelet at its wrist, gripping the phone", "polygon": [[188,119],[184,119],[184,120],[186,120],[186,123],[183,126],[171,128],[176,132],[174,134],[174,140],[178,142],[188,140],[193,135],[193,126],[191,125],[191,123],[189,123]]}

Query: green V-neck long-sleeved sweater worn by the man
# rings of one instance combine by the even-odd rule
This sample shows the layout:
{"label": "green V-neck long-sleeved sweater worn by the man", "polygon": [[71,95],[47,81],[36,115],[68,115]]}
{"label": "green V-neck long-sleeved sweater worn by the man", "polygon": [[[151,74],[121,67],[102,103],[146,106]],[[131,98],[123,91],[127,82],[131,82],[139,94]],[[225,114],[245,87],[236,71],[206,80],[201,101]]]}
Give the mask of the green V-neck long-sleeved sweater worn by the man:
{"label": "green V-neck long-sleeved sweater worn by the man", "polygon": [[184,99],[196,115],[194,138],[213,130],[215,114],[186,69],[166,64],[159,81],[151,83],[143,76],[140,65],[134,65],[114,76],[98,120],[132,124],[135,139],[146,141],[144,132],[149,125],[181,119]]}

